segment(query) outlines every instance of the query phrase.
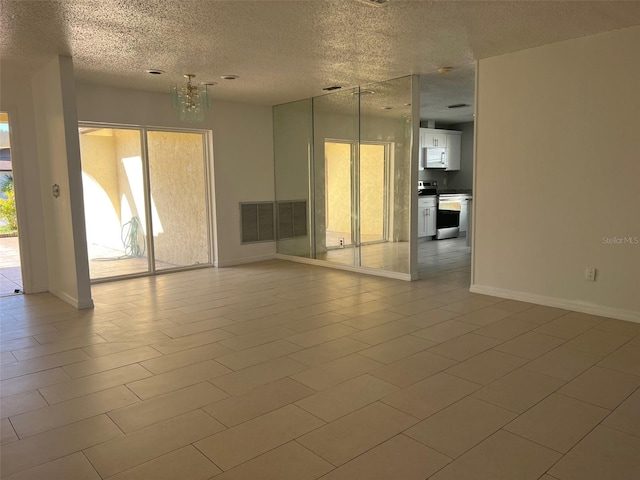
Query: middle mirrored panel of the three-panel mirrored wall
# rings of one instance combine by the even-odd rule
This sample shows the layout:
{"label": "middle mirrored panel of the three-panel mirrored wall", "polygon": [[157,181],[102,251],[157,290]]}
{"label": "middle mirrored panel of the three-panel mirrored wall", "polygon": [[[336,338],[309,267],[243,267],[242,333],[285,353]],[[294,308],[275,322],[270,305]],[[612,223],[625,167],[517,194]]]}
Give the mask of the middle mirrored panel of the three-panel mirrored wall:
{"label": "middle mirrored panel of the three-panel mirrored wall", "polygon": [[359,265],[359,89],[313,99],[315,258]]}

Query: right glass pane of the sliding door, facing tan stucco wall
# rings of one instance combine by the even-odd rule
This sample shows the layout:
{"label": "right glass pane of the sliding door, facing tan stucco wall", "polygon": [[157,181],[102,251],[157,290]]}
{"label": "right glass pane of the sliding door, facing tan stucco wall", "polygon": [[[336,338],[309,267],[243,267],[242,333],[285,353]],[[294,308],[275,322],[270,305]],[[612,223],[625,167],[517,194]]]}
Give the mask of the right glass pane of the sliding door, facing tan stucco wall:
{"label": "right glass pane of the sliding door, facing tan stucco wall", "polygon": [[147,132],[156,270],[210,263],[204,140],[201,133]]}

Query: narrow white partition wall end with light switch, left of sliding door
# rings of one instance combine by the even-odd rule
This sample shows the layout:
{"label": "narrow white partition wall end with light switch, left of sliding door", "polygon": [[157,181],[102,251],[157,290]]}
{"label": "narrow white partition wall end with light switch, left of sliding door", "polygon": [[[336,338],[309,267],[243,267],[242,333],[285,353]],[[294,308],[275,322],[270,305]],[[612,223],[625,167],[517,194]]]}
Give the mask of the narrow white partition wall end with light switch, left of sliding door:
{"label": "narrow white partition wall end with light switch, left of sliding door", "polygon": [[[32,77],[48,290],[77,308],[91,308],[84,227],[73,62],[54,57]],[[59,185],[55,198],[52,186]]]}

